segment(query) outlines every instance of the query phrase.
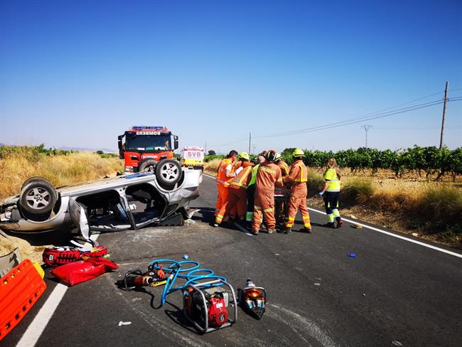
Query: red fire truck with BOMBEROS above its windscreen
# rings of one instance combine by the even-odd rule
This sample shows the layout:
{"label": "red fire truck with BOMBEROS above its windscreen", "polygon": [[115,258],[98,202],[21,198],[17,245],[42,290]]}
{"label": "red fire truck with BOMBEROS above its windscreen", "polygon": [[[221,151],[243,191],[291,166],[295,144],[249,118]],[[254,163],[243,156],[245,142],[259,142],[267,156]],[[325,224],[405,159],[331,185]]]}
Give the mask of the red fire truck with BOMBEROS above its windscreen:
{"label": "red fire truck with BOMBEROS above its windscreen", "polygon": [[125,172],[154,169],[162,159],[172,159],[173,151],[178,149],[178,136],[166,127],[131,127],[117,139],[119,157],[125,159]]}

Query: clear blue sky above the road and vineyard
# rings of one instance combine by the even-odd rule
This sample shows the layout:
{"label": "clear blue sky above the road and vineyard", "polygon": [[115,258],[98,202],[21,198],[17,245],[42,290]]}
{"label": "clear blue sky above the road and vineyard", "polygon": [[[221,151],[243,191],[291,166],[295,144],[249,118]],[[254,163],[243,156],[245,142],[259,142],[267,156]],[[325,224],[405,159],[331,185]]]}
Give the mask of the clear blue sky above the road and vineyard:
{"label": "clear blue sky above the road and vineyard", "polygon": [[[0,142],[116,149],[146,124],[241,151],[249,132],[441,100],[446,80],[461,96],[461,18],[460,0],[1,0]],[[438,145],[442,108],[257,138],[255,151],[358,148],[363,124],[372,147]],[[462,146],[462,101],[444,142]]]}

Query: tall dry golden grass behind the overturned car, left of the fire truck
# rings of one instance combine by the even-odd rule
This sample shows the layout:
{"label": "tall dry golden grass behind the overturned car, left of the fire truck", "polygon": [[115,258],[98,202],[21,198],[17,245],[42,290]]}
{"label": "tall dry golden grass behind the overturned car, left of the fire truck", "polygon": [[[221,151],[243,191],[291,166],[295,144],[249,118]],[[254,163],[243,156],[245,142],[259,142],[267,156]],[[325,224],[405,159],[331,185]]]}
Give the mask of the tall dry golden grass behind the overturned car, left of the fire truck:
{"label": "tall dry golden grass behind the overturned car, left of the fire truck", "polygon": [[123,162],[117,158],[102,158],[90,152],[78,152],[63,156],[33,156],[15,152],[0,159],[0,200],[18,194],[23,181],[41,176],[53,186],[92,181],[104,176],[114,176],[123,171]]}

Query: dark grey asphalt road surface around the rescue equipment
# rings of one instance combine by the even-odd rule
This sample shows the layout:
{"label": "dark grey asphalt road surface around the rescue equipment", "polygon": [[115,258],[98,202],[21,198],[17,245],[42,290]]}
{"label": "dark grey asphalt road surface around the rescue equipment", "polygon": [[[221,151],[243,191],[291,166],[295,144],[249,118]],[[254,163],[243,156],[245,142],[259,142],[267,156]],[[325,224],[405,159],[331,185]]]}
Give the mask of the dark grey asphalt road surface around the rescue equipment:
{"label": "dark grey asphalt road surface around the rescue equipment", "polygon": [[[312,234],[212,228],[213,179],[204,177],[200,193],[193,225],[100,235],[119,269],[70,287],[36,346],[462,346],[461,258],[349,223],[322,228],[320,213],[311,213]],[[200,335],[181,314],[180,293],[159,308],[160,288],[114,285],[129,269],[185,254],[235,289],[247,277],[265,287],[263,319],[239,309],[237,324]],[[46,293],[1,346],[16,346],[50,296],[57,284],[45,278]]]}

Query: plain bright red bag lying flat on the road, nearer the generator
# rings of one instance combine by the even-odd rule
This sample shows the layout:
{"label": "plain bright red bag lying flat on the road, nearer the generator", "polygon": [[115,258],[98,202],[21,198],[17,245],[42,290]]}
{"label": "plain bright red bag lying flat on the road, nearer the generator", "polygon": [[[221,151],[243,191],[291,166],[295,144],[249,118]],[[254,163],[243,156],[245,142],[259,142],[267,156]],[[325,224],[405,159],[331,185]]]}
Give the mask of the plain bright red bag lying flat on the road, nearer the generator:
{"label": "plain bright red bag lying flat on the road, nearer the generator", "polygon": [[51,270],[53,276],[73,286],[104,274],[111,269],[117,269],[117,264],[102,257],[90,257],[88,260],[79,260],[61,265]]}

